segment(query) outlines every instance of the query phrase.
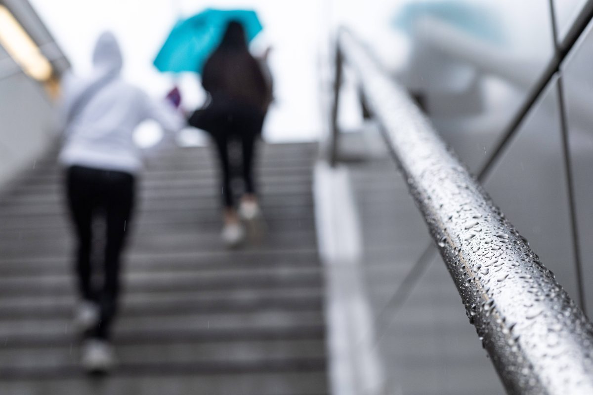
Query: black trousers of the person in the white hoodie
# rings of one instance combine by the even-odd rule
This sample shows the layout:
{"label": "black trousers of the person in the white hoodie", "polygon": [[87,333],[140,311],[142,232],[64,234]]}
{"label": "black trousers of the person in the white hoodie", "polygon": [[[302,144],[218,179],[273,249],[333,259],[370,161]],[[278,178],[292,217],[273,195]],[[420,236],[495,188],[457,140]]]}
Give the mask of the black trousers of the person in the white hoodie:
{"label": "black trousers of the person in the white hoodie", "polygon": [[[78,242],[75,253],[78,288],[82,298],[97,303],[100,309],[99,323],[88,334],[94,338],[109,338],[116,313],[120,255],[130,229],[134,184],[131,174],[120,171],[72,166],[66,173],[68,204]],[[98,286],[91,279],[91,246],[97,236],[93,235],[93,219],[97,216],[103,216],[106,223],[104,251],[99,255],[97,268],[103,281]]]}

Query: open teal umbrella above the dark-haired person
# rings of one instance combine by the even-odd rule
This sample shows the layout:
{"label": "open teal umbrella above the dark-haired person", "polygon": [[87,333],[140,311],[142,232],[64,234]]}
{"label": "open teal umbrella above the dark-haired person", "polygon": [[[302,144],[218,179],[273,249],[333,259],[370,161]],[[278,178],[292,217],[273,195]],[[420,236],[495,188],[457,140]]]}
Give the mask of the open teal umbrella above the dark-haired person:
{"label": "open teal umbrella above the dark-haired person", "polygon": [[230,21],[243,25],[248,41],[262,31],[262,23],[253,10],[207,8],[175,24],[153,64],[161,72],[201,73]]}

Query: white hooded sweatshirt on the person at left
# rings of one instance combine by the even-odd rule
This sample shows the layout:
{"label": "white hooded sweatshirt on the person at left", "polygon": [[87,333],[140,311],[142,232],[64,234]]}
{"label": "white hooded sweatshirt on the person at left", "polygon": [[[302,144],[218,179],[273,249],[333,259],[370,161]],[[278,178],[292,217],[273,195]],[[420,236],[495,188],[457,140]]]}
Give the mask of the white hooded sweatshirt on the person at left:
{"label": "white hooded sweatshirt on the person at left", "polygon": [[168,101],[155,102],[120,78],[122,54],[113,34],[98,38],[93,64],[89,78],[68,73],[63,79],[58,115],[65,143],[60,162],[135,174],[142,168],[132,138],[136,126],[153,119],[165,130],[178,131],[185,120]]}

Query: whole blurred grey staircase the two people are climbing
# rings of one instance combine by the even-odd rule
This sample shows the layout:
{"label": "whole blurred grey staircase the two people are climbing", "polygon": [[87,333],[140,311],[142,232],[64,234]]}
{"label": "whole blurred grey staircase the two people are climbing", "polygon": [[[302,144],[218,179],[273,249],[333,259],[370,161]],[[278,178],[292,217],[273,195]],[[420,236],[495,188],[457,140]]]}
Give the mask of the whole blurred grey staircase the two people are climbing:
{"label": "whole blurred grey staircase the two people are climbing", "polygon": [[0,394],[327,394],[315,150],[262,144],[266,235],[235,251],[219,240],[210,150],[151,153],[123,260],[119,365],[103,378],[78,366],[55,155],[34,163],[0,201]]}

